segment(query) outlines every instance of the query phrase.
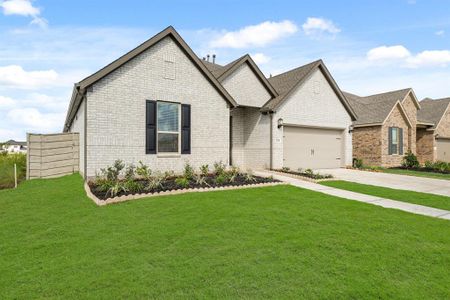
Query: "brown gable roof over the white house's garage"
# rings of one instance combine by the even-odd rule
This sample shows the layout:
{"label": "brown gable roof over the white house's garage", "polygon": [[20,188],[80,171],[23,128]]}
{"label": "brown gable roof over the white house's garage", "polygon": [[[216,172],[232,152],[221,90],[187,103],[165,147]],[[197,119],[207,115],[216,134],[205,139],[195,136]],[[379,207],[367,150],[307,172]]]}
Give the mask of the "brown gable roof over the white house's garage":
{"label": "brown gable roof over the white house's garage", "polygon": [[306,82],[306,80],[310,78],[313,72],[317,69],[322,71],[328,83],[331,85],[332,89],[341,101],[342,105],[344,105],[348,114],[353,120],[355,120],[357,113],[355,113],[355,111],[352,109],[352,107],[348,103],[347,98],[342,94],[342,91],[334,81],[333,77],[331,76],[330,72],[321,59],[269,78],[268,80],[270,84],[272,84],[272,86],[278,92],[279,96],[269,100],[264,105],[263,110],[276,110],[288,98],[288,96],[291,95],[295,88]]}

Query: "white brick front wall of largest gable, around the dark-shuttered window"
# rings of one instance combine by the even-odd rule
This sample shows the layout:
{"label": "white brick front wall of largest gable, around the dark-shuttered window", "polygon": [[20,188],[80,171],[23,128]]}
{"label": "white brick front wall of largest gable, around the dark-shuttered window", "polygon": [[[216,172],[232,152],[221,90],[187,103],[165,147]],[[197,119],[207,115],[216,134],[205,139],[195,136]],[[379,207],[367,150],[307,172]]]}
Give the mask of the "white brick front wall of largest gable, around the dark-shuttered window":
{"label": "white brick front wall of largest gable, around the dark-shuttered window", "polygon": [[[145,154],[147,99],[191,104],[191,154]],[[228,163],[229,107],[170,37],[95,83],[87,93],[86,113],[87,176],[116,159],[175,171],[185,162],[195,167]]]}

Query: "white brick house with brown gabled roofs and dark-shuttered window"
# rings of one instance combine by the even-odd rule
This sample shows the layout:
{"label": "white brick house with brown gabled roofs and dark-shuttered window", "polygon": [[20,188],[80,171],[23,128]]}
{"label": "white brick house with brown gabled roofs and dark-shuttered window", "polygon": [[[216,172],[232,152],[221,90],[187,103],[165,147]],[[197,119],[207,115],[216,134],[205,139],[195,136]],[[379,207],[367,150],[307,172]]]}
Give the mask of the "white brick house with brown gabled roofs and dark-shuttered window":
{"label": "white brick house with brown gabled roofs and dark-shuttered window", "polygon": [[226,66],[202,61],[169,27],[77,83],[64,131],[80,133],[85,177],[116,159],[163,171],[218,161],[278,168],[286,154],[280,119],[339,130],[339,166],[350,164],[353,112],[323,63],[306,77],[284,95],[248,55]]}

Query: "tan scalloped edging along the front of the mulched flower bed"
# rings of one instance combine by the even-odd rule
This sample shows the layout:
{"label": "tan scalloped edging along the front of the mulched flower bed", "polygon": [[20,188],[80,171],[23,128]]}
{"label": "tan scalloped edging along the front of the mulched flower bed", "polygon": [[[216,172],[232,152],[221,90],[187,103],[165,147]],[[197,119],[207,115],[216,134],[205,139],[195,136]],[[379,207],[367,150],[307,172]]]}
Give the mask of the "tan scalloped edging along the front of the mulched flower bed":
{"label": "tan scalloped edging along the front of the mulched flower bed", "polygon": [[86,191],[86,195],[94,201],[97,206],[105,206],[108,204],[120,203],[135,199],[141,198],[150,198],[150,197],[158,197],[158,196],[170,196],[170,195],[179,195],[179,194],[187,194],[187,193],[195,193],[195,192],[213,192],[213,191],[227,191],[227,190],[238,190],[238,189],[247,189],[247,188],[259,188],[259,187],[268,187],[268,186],[276,186],[276,185],[288,185],[286,182],[266,182],[266,183],[255,183],[255,184],[246,184],[239,186],[223,186],[223,187],[211,187],[211,188],[189,188],[189,189],[181,189],[181,190],[173,190],[173,191],[165,191],[158,193],[141,193],[134,195],[125,195],[120,197],[108,198],[105,200],[100,200],[97,198],[92,192],[87,182],[84,183],[84,190]]}

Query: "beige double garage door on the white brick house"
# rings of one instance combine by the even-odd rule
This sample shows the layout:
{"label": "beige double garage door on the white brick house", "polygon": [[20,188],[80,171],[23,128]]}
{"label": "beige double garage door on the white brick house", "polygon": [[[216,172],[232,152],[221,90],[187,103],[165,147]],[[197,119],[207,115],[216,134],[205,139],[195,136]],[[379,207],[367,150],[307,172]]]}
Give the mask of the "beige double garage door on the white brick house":
{"label": "beige double garage door on the white brick house", "polygon": [[341,167],[342,130],[284,127],[283,166],[328,169]]}

